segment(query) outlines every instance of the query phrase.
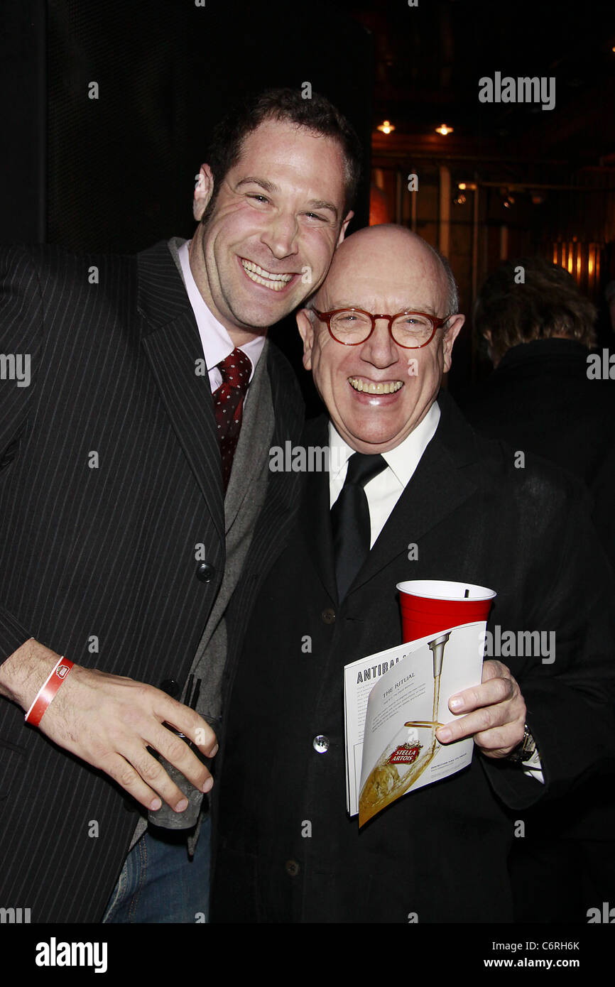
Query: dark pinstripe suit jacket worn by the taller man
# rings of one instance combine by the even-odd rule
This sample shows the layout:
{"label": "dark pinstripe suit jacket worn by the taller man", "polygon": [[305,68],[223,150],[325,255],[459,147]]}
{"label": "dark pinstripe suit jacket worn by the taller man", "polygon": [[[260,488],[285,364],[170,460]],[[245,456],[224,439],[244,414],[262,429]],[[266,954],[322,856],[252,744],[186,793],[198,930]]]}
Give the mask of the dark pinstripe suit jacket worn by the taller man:
{"label": "dark pinstripe suit jacket worn by the taller man", "polygon": [[[34,637],[79,664],[183,684],[222,580],[224,504],[202,348],[167,245],[137,258],[11,248],[0,285],[0,352],[29,354],[32,374],[19,387],[2,364],[0,662]],[[301,402],[272,345],[268,371],[283,444]],[[231,658],[296,493],[292,474],[269,475]],[[134,829],[124,804],[0,698],[0,906],[100,921]]]}

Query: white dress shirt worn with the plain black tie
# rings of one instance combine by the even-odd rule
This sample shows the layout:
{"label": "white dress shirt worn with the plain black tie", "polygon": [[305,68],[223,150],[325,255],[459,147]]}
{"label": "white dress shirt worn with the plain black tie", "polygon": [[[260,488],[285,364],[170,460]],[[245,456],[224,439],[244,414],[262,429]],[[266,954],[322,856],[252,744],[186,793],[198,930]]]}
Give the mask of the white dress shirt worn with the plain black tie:
{"label": "white dress shirt worn with the plain black tie", "polygon": [[[382,458],[387,464],[386,470],[382,470],[377,477],[365,484],[363,490],[367,497],[371,528],[370,549],[388,521],[395,504],[404,493],[406,485],[410,483],[421,462],[424,450],[435,435],[439,420],[440,409],[437,402],[434,401],[423,421],[417,425],[414,431],[395,449],[382,453]],[[348,469],[348,459],[355,450],[350,448],[331,421],[329,422],[329,448],[331,452],[329,504],[330,507],[333,507],[342,493]],[[544,785],[540,756],[537,750],[531,760],[523,762],[523,773]]]}

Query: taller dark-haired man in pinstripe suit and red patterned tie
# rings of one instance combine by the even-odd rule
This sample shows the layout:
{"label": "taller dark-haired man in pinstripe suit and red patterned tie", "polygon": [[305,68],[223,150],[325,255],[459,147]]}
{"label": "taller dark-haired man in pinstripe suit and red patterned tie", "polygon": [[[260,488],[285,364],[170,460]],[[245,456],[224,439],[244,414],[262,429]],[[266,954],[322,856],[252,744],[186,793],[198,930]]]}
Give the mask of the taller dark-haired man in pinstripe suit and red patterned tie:
{"label": "taller dark-haired man in pinstripe suit and red patterned tie", "polygon": [[[0,907],[33,922],[206,917],[206,824],[191,862],[134,809],[186,807],[153,752],[213,784],[165,724],[215,755],[225,660],[296,493],[269,473],[301,404],[267,328],[324,279],[358,156],[327,101],[269,92],[214,133],[190,244],[1,258],[0,347],[28,355],[32,383],[0,380]],[[233,462],[211,394],[223,413],[235,354]],[[26,725],[60,655],[74,665]]]}

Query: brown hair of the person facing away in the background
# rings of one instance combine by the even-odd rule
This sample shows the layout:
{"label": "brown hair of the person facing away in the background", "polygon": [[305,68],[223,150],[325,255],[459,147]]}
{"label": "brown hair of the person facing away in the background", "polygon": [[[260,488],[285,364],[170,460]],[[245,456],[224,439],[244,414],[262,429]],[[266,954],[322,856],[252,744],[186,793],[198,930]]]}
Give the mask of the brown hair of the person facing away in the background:
{"label": "brown hair of the person facing away in the background", "polygon": [[[523,281],[520,281],[522,268]],[[496,360],[520,342],[565,336],[587,348],[595,343],[596,309],[572,274],[540,257],[505,261],[487,278],[474,308],[481,336],[491,333]]]}

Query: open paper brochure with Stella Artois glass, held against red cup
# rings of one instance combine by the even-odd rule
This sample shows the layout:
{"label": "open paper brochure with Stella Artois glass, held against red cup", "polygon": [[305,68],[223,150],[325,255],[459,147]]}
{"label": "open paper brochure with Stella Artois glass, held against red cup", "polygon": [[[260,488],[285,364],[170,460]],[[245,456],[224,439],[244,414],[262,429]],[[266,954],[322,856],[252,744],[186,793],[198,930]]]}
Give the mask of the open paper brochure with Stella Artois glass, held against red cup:
{"label": "open paper brochure with Stella Artois glass, held against red cup", "polygon": [[471,763],[471,737],[442,745],[435,731],[456,719],[449,698],[481,682],[485,629],[464,624],[346,665],[346,808],[359,827]]}

